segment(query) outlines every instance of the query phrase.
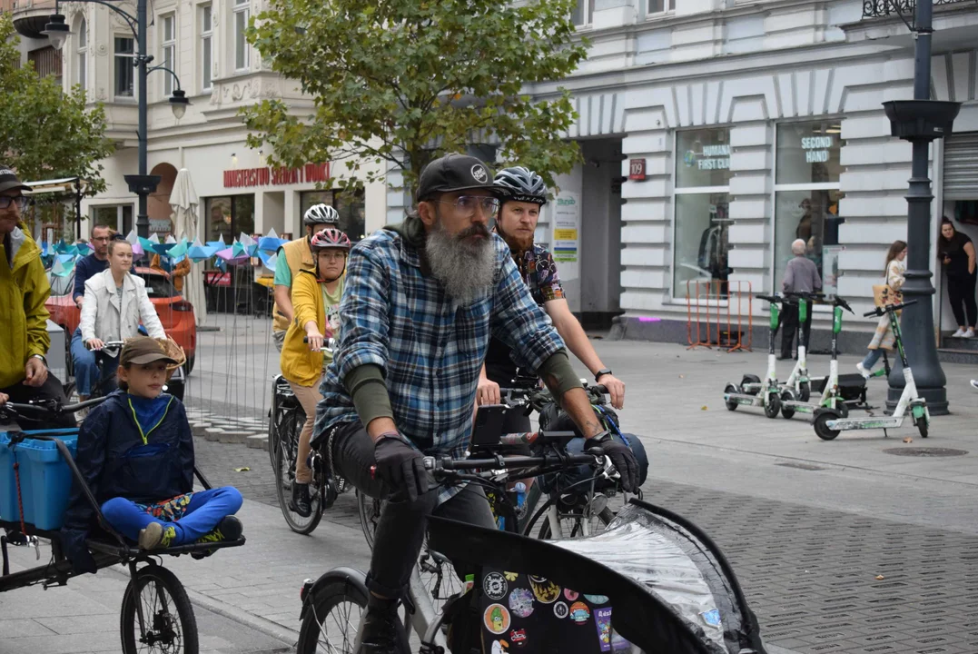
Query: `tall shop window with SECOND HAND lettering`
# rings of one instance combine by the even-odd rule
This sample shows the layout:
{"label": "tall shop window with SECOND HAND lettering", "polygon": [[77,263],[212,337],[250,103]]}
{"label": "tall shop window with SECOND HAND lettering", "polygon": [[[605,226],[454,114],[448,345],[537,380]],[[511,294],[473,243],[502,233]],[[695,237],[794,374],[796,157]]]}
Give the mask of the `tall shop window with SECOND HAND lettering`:
{"label": "tall shop window with SECOND HAND lettering", "polygon": [[805,241],[822,288],[834,294],[839,245],[839,176],[842,141],[837,120],[778,125],[775,164],[775,278],[778,290],[791,243]]}

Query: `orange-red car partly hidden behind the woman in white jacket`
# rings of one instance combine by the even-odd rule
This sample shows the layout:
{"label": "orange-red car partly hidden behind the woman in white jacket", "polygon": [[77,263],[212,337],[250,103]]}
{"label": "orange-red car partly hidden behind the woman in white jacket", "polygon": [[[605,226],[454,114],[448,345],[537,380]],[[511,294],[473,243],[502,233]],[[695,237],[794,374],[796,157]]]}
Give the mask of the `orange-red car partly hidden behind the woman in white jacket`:
{"label": "orange-red car partly hidden behind the woman in white jacket", "polygon": [[[187,355],[187,373],[194,370],[197,354],[197,322],[194,305],[185,300],[170,283],[170,276],[153,268],[136,268],[136,275],[146,282],[146,292],[156,306],[156,315],[166,333],[173,337]],[[48,272],[51,297],[44,303],[51,313],[51,320],[65,329],[66,364],[71,372],[71,335],[81,322],[81,310],[71,299],[74,290],[74,271],[67,277],[56,277]]]}

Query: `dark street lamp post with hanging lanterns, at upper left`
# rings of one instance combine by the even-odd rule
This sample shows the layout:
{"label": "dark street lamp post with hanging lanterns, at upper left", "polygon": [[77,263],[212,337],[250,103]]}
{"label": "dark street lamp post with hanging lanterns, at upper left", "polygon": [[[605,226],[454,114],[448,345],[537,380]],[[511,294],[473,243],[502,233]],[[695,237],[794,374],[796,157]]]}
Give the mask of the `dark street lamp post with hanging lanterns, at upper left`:
{"label": "dark street lamp post with hanging lanterns, at upper left", "polygon": [[[183,118],[190,101],[187,99],[187,94],[180,88],[180,78],[175,72],[173,72],[173,70],[164,65],[148,67],[148,65],[153,62],[153,55],[147,54],[146,45],[146,27],[148,24],[146,16],[147,0],[137,0],[135,18],[111,4],[107,0],[74,1],[109,7],[109,9],[121,16],[122,19],[129,25],[129,28],[132,30],[132,34],[136,39],[137,53],[133,65],[139,69],[139,127],[137,130],[139,139],[139,174],[125,175],[124,179],[126,184],[129,185],[129,192],[139,196],[139,213],[136,216],[136,232],[139,236],[147,239],[150,236],[150,216],[147,208],[147,201],[150,194],[156,191],[156,185],[159,184],[160,180],[159,175],[150,175],[147,171],[146,89],[149,74],[154,70],[162,70],[163,72],[173,75],[173,78],[176,81],[176,89],[173,91],[173,95],[170,96],[169,103],[170,108],[173,109],[173,115],[176,116],[178,120]],[[65,47],[65,41],[67,41],[67,35],[69,33],[67,23],[65,22],[65,16],[59,12],[59,4],[59,2],[55,3],[55,13],[51,15],[51,17],[48,19],[48,23],[44,26],[44,33],[48,36],[48,39],[51,41],[51,45],[55,50],[61,50],[63,47]]]}

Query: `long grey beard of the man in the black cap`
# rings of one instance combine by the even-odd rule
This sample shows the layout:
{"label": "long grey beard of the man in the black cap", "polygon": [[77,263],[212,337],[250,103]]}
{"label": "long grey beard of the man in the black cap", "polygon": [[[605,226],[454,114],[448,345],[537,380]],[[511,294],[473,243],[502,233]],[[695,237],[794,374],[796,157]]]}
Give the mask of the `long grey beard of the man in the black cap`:
{"label": "long grey beard of the man in the black cap", "polygon": [[460,306],[471,304],[492,286],[496,272],[492,237],[468,245],[445,231],[439,220],[427,235],[424,252],[431,274]]}

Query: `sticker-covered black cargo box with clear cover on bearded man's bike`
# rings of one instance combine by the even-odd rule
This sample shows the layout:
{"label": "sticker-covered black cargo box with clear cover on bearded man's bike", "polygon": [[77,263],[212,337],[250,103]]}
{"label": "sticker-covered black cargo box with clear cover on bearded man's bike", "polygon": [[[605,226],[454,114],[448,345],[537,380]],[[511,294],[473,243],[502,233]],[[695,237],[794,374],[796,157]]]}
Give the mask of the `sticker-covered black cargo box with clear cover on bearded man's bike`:
{"label": "sticker-covered black cargo box with clear cover on bearded man's bike", "polygon": [[429,530],[450,544],[441,553],[477,570],[459,600],[467,610],[446,608],[453,652],[765,652],[719,547],[667,509],[632,500],[588,539],[530,540],[435,517]]}

